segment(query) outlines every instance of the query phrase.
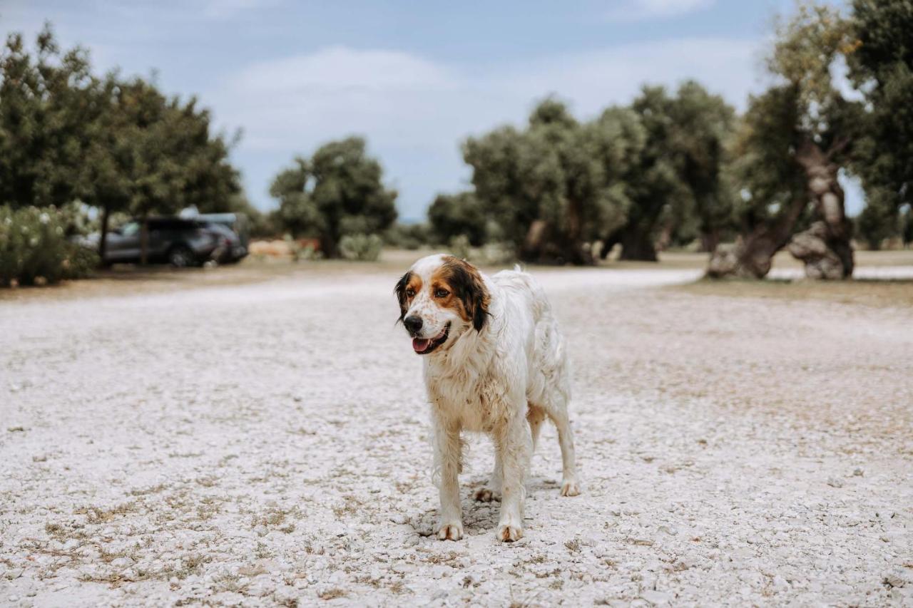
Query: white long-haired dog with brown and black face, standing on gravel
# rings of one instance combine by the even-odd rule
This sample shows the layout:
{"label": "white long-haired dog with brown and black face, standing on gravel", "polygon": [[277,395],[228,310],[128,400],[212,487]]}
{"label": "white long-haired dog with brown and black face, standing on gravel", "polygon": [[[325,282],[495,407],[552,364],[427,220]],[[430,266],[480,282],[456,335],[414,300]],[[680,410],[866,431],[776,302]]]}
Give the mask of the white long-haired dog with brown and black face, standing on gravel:
{"label": "white long-haired dog with brown and black face, standing on gravel", "polygon": [[519,267],[487,277],[466,260],[419,259],[396,283],[400,317],[424,357],[440,494],[437,538],[463,536],[463,430],[487,433],[495,468],[474,498],[501,500],[498,540],[523,537],[524,483],[545,418],[558,429],[561,496],[580,493],[568,418],[571,377],[545,292]]}

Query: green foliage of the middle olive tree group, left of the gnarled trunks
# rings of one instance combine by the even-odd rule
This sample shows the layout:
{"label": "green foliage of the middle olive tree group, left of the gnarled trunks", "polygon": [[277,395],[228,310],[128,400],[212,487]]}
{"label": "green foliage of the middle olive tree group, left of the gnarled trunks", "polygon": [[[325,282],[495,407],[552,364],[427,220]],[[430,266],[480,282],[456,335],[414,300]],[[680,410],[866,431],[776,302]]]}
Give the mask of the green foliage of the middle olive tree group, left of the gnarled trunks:
{"label": "green foliage of the middle olive tree group, left of the gnarled trunks", "polygon": [[586,263],[585,245],[602,239],[622,242],[626,257],[655,258],[659,225],[715,241],[734,200],[723,172],[734,123],[734,110],[695,82],[675,97],[647,87],[631,108],[583,123],[545,100],[525,131],[467,140],[477,204],[470,194],[438,198],[429,218],[440,236],[477,245],[488,215],[527,260]]}

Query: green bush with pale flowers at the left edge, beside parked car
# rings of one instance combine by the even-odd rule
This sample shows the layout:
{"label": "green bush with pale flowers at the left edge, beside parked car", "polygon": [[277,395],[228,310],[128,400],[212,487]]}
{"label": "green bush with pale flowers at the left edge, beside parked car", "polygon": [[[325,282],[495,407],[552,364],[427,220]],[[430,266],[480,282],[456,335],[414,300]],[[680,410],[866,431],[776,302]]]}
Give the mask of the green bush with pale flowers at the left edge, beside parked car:
{"label": "green bush with pale flowers at the left edge, beside parked car", "polygon": [[81,278],[98,255],[67,240],[71,218],[56,207],[0,206],[0,286],[45,285]]}

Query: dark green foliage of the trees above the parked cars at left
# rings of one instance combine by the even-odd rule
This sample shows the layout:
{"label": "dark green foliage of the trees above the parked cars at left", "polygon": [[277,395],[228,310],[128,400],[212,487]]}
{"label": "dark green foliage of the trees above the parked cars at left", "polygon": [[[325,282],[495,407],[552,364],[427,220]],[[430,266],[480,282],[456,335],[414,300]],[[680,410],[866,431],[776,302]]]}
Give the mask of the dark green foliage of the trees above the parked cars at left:
{"label": "dark green foliage of the trees above the parked cars at left", "polygon": [[112,213],[221,211],[240,185],[210,122],[194,99],[92,76],[88,53],[63,52],[50,26],[32,51],[12,34],[0,51],[0,204],[81,200],[103,210],[103,235]]}

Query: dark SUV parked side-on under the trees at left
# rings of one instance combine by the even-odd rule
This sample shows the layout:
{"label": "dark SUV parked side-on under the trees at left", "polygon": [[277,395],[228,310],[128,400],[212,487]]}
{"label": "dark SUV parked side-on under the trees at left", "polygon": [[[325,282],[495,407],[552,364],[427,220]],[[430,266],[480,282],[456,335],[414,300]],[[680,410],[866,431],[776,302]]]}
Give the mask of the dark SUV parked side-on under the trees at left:
{"label": "dark SUV parked side-on under the trees at left", "polygon": [[[148,262],[167,263],[173,267],[197,266],[224,257],[231,247],[226,231],[196,219],[150,217],[147,221]],[[104,264],[135,263],[141,259],[142,223],[132,220],[108,233]],[[228,231],[230,232],[230,231]],[[86,246],[98,246],[99,234],[82,239]]]}

